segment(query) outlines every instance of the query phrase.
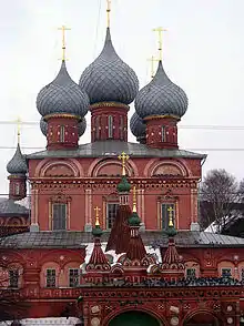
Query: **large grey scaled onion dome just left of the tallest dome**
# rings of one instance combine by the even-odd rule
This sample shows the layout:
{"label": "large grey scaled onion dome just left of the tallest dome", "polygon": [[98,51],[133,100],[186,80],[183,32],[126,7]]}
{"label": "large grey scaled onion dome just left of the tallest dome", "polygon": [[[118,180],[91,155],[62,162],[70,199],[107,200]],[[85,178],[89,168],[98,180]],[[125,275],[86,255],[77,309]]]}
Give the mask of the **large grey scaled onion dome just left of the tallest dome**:
{"label": "large grey scaled onion dome just left of the tallest dome", "polygon": [[89,108],[85,92],[70,78],[65,61],[62,61],[57,78],[38,94],[37,108],[42,116],[68,113],[84,116]]}

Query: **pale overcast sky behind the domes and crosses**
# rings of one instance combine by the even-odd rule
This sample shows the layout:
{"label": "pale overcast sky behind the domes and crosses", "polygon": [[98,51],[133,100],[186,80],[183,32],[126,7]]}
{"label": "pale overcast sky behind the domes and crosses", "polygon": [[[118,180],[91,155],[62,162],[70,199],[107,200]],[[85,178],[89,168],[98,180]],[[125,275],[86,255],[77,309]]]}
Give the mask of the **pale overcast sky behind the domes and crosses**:
{"label": "pale overcast sky behind the domes and crosses", "polygon": [[[103,45],[105,6],[105,0],[1,1],[0,121],[13,121],[20,115],[23,121],[37,122],[22,126],[24,153],[38,151],[27,147],[45,146],[38,124],[35,98],[60,68],[61,32],[58,28],[62,24],[71,28],[67,33],[67,64],[78,82]],[[157,49],[152,29],[159,26],[167,29],[163,64],[190,101],[180,123],[180,145],[209,154],[204,173],[224,167],[238,179],[244,177],[243,12],[243,0],[112,0],[111,12],[113,44],[136,72],[141,88],[150,81],[146,59],[156,54]],[[131,105],[130,116],[133,111]],[[81,143],[90,141],[90,115],[87,119],[89,128]],[[197,125],[233,128],[207,130]],[[131,133],[129,140],[135,141]],[[1,147],[16,144],[17,126],[1,124],[1,193],[8,192],[6,165],[14,152]]]}

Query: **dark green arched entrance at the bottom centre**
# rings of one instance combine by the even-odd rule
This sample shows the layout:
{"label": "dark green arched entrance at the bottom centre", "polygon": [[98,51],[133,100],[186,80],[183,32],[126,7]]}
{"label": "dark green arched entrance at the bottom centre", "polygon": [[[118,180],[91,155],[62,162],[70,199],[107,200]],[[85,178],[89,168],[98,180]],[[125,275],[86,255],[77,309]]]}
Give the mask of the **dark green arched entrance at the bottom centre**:
{"label": "dark green arched entrance at the bottom centre", "polygon": [[162,324],[146,313],[125,312],[115,316],[109,326],[162,326]]}

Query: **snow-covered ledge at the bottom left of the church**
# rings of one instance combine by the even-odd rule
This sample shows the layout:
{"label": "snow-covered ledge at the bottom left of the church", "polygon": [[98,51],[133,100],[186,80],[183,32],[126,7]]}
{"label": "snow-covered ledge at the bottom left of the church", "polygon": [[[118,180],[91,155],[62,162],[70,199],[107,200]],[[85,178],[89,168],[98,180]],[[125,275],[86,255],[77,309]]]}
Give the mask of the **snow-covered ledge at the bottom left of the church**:
{"label": "snow-covered ledge at the bottom left of the church", "polygon": [[[0,326],[10,326],[12,322],[2,322]],[[75,317],[49,317],[49,318],[28,318],[20,320],[23,326],[32,326],[32,325],[77,325],[80,323],[80,319]]]}

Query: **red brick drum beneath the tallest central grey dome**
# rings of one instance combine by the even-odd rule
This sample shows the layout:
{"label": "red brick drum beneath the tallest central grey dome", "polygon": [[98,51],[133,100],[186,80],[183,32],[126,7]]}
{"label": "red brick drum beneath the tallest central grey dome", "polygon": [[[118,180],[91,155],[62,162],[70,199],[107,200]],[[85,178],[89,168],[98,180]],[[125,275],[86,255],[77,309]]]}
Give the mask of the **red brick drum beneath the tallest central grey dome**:
{"label": "red brick drum beneath the tallest central grey dome", "polygon": [[92,105],[91,141],[118,140],[128,141],[128,105]]}

